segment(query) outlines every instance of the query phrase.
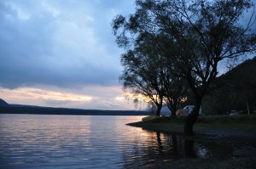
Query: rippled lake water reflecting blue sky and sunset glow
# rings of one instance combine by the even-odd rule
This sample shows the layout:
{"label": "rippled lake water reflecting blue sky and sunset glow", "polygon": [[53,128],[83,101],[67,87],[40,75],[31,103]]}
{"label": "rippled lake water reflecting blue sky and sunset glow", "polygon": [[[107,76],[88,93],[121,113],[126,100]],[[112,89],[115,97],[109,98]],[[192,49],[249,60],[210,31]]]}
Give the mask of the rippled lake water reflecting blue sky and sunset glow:
{"label": "rippled lake water reflecting blue sky and sunset glow", "polygon": [[125,125],[142,117],[2,114],[0,168],[139,168],[181,158],[228,158],[244,144],[184,140],[182,134]]}

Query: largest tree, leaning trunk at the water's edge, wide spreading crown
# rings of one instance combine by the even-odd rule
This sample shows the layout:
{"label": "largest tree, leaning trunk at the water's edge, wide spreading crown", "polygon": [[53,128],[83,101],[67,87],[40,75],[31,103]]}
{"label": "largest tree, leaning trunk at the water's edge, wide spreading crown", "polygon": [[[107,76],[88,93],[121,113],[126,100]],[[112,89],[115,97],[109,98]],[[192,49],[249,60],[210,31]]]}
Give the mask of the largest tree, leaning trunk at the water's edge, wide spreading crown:
{"label": "largest tree, leaning trunk at the water's edge, wide spreading crown", "polygon": [[195,108],[184,126],[185,134],[192,135],[219,62],[255,52],[256,36],[250,30],[255,24],[253,14],[247,25],[241,25],[242,14],[254,4],[250,0],[137,0],[136,4],[135,14],[113,20],[117,42],[132,48],[144,32],[164,32],[172,44],[168,55],[175,65],[172,74],[183,78],[194,95]]}

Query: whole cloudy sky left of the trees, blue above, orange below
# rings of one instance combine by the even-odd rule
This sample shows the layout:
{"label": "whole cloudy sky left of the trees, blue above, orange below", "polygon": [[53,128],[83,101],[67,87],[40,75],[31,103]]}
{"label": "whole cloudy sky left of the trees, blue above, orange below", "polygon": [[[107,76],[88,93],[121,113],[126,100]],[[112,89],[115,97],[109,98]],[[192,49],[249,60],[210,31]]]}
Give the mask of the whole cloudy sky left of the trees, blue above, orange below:
{"label": "whole cloudy sky left of the trees, blue above, orange below", "polygon": [[1,0],[0,98],[102,110],[134,109],[119,75],[111,21],[132,0]]}

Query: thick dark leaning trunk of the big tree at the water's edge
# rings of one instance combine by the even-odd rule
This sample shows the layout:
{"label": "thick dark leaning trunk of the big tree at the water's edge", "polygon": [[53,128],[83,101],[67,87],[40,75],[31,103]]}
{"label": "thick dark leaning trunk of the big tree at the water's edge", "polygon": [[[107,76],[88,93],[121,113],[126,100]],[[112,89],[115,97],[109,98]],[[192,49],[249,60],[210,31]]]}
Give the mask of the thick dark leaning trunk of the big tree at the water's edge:
{"label": "thick dark leaning trunk of the big tree at the water's edge", "polygon": [[192,110],[192,112],[187,116],[185,125],[184,125],[184,135],[185,136],[193,136],[193,126],[195,124],[195,121],[198,118],[199,110],[201,107],[201,99],[196,99],[195,107]]}

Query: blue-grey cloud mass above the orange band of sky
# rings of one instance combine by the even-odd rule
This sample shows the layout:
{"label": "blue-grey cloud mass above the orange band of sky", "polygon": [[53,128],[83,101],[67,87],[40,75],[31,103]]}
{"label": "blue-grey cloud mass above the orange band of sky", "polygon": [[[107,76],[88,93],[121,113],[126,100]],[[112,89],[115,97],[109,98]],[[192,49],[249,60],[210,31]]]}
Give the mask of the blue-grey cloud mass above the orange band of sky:
{"label": "blue-grey cloud mass above the orange band of sky", "polygon": [[0,3],[0,86],[118,84],[120,53],[110,9],[87,14],[86,8],[76,11],[80,3],[68,11],[70,6],[58,3],[10,2]]}

